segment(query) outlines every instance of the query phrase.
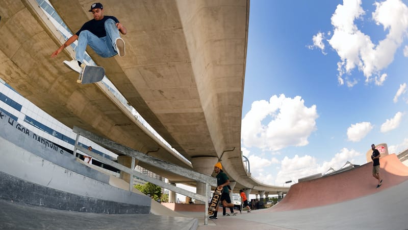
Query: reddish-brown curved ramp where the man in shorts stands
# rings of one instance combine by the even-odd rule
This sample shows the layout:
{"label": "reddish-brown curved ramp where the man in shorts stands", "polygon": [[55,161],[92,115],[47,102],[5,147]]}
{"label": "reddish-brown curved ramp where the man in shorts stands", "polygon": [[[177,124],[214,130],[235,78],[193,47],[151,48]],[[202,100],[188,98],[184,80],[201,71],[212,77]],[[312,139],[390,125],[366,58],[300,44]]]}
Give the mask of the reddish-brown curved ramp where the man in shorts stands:
{"label": "reddish-brown curved ramp where the man in shorts stands", "polygon": [[384,180],[375,189],[372,162],[345,172],[296,183],[285,198],[271,211],[289,211],[339,203],[391,188],[408,179],[408,167],[395,154],[380,158],[380,175]]}

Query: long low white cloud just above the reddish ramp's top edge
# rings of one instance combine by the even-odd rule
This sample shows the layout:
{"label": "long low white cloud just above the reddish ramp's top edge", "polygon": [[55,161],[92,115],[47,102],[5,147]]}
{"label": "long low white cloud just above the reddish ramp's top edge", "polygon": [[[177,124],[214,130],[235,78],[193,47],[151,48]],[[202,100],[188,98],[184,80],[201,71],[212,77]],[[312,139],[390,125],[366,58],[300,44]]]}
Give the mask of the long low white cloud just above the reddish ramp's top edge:
{"label": "long low white cloud just above the reddish ramp's top edge", "polygon": [[297,181],[299,178],[311,176],[317,173],[324,174],[329,168],[335,170],[340,169],[343,165],[349,161],[353,164],[361,164],[356,162],[360,160],[364,162],[364,159],[360,159],[359,156],[363,154],[353,149],[349,150],[343,148],[339,153],[336,153],[329,162],[317,163],[317,159],[313,156],[295,155],[293,158],[285,157],[282,160],[281,170],[277,173],[275,185],[281,186],[285,181],[293,180]]}

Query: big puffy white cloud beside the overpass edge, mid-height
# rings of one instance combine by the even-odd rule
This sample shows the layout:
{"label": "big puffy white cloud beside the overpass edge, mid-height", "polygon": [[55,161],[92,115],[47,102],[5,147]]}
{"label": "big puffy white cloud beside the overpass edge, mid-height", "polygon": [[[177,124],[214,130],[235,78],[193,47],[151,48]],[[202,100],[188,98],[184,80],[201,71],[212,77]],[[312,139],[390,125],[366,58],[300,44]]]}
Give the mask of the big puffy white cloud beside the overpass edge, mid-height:
{"label": "big puffy white cloud beside the overpass edge, mid-height", "polygon": [[[241,138],[245,147],[277,151],[288,146],[305,146],[316,129],[316,105],[307,107],[301,97],[272,96],[252,103],[242,119]],[[271,120],[268,124],[266,120]]]}

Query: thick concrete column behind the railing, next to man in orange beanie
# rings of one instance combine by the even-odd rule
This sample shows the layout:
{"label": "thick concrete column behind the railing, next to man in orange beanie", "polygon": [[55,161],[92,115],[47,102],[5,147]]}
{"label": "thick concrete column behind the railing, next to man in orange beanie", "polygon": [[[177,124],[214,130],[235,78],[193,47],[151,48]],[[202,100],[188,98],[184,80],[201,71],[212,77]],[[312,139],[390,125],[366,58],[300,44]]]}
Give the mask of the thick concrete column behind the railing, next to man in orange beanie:
{"label": "thick concrete column behind the railing, next to man in orange beanie", "polygon": [[[214,171],[214,165],[218,162],[218,158],[214,156],[194,157],[191,159],[191,164],[196,172],[211,175]],[[206,184],[197,182],[196,193],[202,196],[206,195]],[[204,203],[196,200],[196,203]]]}

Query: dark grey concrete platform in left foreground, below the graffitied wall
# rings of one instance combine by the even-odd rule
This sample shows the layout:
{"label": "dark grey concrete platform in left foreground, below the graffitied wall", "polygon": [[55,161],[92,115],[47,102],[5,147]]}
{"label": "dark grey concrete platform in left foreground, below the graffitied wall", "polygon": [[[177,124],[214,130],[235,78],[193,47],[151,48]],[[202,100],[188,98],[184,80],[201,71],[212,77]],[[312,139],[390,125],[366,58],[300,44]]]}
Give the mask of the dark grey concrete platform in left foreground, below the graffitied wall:
{"label": "dark grey concrete platform in left foreground, below the graffitied wall", "polygon": [[197,219],[152,214],[99,214],[0,199],[0,229],[196,229]]}

